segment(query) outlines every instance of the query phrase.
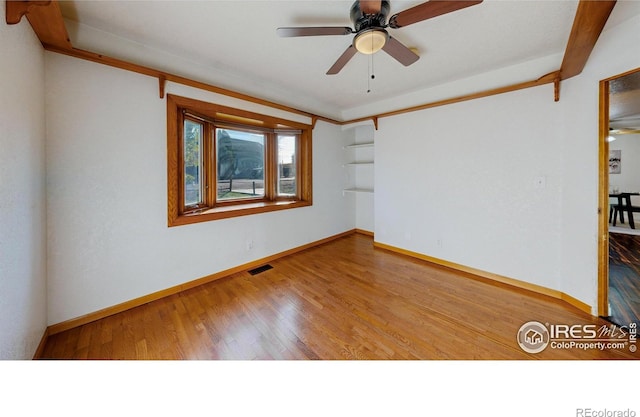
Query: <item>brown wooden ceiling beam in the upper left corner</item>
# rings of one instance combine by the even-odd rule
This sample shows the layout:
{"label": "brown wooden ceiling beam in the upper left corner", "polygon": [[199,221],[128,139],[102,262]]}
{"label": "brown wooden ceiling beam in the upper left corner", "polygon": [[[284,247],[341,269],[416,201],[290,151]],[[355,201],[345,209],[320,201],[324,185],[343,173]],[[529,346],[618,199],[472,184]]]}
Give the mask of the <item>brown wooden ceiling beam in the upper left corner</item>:
{"label": "brown wooden ceiling beam in the upper left corner", "polygon": [[71,41],[57,0],[9,0],[6,4],[7,24],[15,25],[20,22],[22,16],[27,16],[43,46],[71,49]]}

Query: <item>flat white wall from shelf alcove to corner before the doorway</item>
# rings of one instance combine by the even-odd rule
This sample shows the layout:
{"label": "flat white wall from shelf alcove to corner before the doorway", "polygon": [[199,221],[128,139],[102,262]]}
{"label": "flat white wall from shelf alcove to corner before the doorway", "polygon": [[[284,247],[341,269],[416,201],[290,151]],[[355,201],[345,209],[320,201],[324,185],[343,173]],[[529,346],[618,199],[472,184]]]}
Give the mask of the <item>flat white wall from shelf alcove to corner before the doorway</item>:
{"label": "flat white wall from shelf alcove to corner before the doorway", "polygon": [[381,119],[376,241],[558,288],[559,110],[543,86]]}

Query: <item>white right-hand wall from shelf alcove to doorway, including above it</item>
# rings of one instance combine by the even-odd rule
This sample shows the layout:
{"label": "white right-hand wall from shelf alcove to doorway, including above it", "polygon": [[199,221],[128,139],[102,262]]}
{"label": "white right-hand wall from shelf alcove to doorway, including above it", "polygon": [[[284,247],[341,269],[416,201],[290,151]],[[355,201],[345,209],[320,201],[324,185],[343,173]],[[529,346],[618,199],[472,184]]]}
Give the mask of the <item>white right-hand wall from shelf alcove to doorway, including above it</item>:
{"label": "white right-hand wall from shelf alcove to doorway, including above it", "polygon": [[625,19],[559,103],[547,85],[380,119],[376,240],[562,291],[596,314],[598,89],[640,67],[640,16]]}

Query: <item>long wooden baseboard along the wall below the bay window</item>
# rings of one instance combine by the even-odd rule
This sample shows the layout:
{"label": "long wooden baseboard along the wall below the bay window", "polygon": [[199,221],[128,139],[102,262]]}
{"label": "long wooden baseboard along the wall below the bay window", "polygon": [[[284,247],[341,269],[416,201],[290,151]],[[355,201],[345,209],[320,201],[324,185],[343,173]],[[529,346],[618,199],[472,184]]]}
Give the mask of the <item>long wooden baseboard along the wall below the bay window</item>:
{"label": "long wooden baseboard along the wall below the bay window", "polygon": [[202,278],[195,279],[193,281],[188,281],[183,284],[176,285],[174,287],[170,287],[164,290],[160,290],[142,297],[134,298],[133,300],[125,301],[124,303],[116,304],[111,307],[104,308],[102,310],[95,311],[93,313],[85,314],[80,317],[76,317],[70,320],[63,321],[61,323],[52,324],[49,326],[45,332],[47,336],[54,335],[65,330],[73,329],[75,327],[82,326],[87,323],[91,323],[96,320],[100,320],[102,318],[121,313],[123,311],[132,309],[134,307],[141,306],[143,304],[149,303],[151,301],[159,300],[164,297],[168,297],[173,294],[177,294],[180,291],[188,290],[190,288],[195,288],[199,285],[206,284],[211,281],[215,281],[217,279],[225,278],[230,275],[233,275],[238,272],[248,271],[250,269],[256,268],[258,266],[264,265],[266,263],[275,261],[276,259],[283,258],[285,256],[301,252],[306,249],[310,249],[316,246],[323,245],[325,243],[331,242],[336,239],[340,239],[345,236],[349,236],[355,233],[355,230],[347,230],[346,232],[338,233],[337,235],[329,236],[324,239],[316,240],[311,243],[307,243],[302,246],[298,246],[280,253],[276,253],[274,255],[266,256],[261,259],[257,259],[255,261],[248,262],[243,265],[238,265],[233,268],[226,269],[224,271],[217,272],[215,274],[207,275]]}

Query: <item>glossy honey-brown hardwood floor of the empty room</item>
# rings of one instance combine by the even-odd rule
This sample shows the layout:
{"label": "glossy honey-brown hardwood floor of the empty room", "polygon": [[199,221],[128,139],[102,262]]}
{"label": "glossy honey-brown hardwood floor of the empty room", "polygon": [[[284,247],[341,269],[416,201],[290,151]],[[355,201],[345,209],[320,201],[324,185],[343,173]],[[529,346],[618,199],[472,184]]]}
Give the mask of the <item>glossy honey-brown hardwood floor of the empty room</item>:
{"label": "glossy honey-brown hardwood floor of the empty room", "polygon": [[599,359],[524,352],[522,324],[609,325],[568,304],[374,249],[353,234],[48,338],[61,359]]}

